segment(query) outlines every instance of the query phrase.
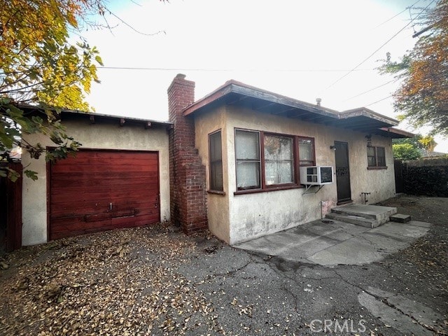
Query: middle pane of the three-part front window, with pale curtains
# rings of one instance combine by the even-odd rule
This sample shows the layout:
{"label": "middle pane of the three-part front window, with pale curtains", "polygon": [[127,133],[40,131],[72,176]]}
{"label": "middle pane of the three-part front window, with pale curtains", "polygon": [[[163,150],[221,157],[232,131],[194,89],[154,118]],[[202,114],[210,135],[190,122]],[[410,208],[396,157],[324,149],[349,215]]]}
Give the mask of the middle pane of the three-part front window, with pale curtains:
{"label": "middle pane of the three-part front window, with pale curtains", "polygon": [[293,138],[265,135],[266,186],[294,183]]}

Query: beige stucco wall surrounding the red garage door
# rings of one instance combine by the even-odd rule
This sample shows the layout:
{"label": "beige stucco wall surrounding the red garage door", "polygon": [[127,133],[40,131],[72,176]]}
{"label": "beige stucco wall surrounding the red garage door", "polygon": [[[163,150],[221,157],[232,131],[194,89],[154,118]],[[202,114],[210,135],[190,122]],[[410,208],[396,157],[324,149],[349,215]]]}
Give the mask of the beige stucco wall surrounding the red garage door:
{"label": "beige stucco wall surrounding the red garage door", "polygon": [[[169,154],[168,134],[164,127],[154,126],[145,130],[143,125],[133,126],[101,121],[91,124],[90,120],[67,120],[63,124],[66,132],[79,141],[81,148],[120,149],[159,152],[160,169],[160,218],[169,221]],[[25,140],[31,144],[54,146],[42,135],[32,134]],[[24,177],[22,189],[22,244],[33,245],[47,241],[47,174],[45,158],[31,160],[26,153],[22,164],[38,173],[38,180]]]}

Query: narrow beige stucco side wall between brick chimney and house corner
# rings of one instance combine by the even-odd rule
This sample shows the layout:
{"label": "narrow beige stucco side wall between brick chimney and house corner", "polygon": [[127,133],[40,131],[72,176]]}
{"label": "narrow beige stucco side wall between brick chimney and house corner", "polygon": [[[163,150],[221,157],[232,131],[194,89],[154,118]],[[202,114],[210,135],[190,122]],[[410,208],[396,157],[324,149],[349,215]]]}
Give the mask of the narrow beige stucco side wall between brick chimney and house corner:
{"label": "narrow beige stucco side wall between brick chimney and house corner", "polygon": [[221,130],[221,142],[223,144],[223,189],[225,195],[214,193],[207,194],[207,216],[209,230],[223,241],[230,241],[229,226],[229,197],[228,197],[228,135],[226,129],[225,108],[221,107],[213,113],[202,114],[195,118],[195,144],[206,167],[207,190],[210,189],[209,179],[209,134]]}

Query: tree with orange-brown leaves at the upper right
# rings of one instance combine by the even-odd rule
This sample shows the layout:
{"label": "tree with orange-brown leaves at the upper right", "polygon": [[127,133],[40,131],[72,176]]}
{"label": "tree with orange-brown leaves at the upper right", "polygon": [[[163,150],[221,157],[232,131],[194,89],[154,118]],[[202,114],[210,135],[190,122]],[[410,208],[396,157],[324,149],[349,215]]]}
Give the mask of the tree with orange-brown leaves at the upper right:
{"label": "tree with orange-brown leaves at the upper right", "polygon": [[387,54],[381,73],[393,73],[401,80],[394,94],[395,111],[414,127],[429,126],[431,134],[448,135],[448,0],[437,1],[423,10],[425,27],[413,50],[400,62]]}

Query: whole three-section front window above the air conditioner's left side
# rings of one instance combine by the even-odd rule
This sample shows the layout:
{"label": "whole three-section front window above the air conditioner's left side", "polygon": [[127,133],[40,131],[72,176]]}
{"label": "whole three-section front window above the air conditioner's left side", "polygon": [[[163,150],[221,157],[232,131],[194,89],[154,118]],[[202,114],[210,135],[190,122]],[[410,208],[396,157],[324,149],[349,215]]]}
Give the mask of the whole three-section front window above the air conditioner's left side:
{"label": "whole three-section front window above the air conditioner's left side", "polygon": [[235,130],[238,192],[298,188],[299,166],[314,158],[312,138]]}

